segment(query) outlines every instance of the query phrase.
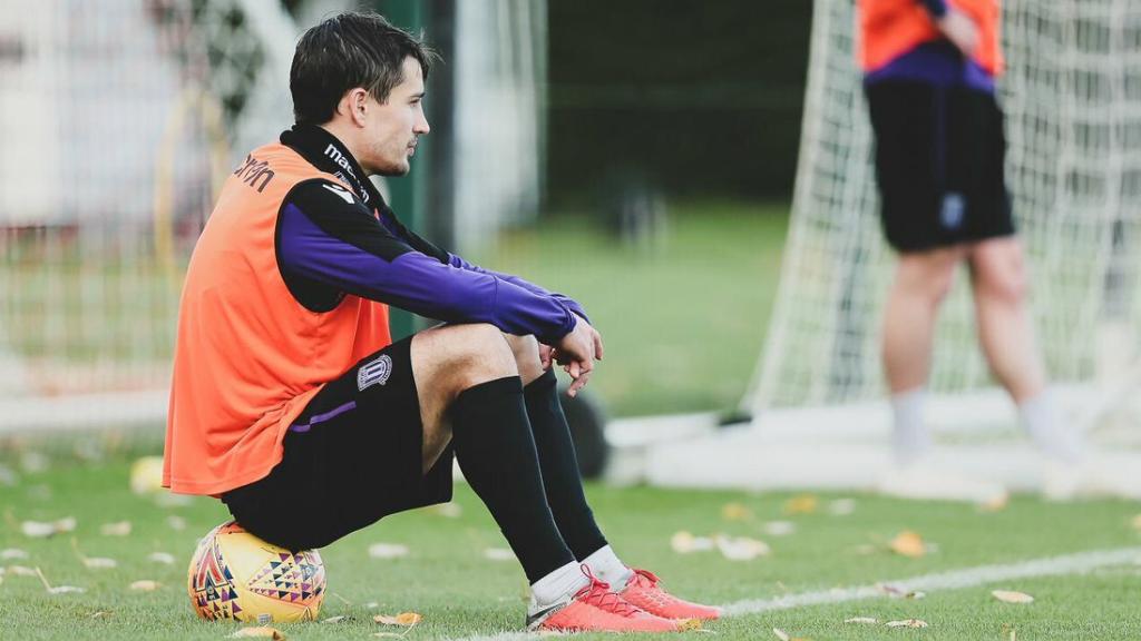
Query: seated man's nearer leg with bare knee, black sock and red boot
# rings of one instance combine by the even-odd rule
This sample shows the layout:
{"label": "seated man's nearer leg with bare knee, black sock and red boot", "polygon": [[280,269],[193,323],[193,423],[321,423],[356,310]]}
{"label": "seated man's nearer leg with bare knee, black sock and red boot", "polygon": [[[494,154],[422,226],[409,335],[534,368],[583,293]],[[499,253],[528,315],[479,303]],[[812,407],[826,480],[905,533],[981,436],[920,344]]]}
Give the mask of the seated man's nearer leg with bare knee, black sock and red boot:
{"label": "seated man's nearer leg with bare knee, black sock and red boot", "polygon": [[[423,422],[423,469],[451,441],[471,488],[487,505],[532,584],[528,625],[555,630],[667,632],[652,616],[591,581],[547,502],[515,356],[491,325],[428,330],[412,340]],[[427,473],[427,472],[426,472]]]}

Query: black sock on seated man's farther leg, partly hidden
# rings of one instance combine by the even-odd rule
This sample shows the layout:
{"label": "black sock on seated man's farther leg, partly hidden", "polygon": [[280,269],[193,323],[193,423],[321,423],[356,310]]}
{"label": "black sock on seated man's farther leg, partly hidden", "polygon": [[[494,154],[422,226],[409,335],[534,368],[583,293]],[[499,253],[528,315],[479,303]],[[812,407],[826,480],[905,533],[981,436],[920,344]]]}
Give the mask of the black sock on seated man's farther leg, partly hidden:
{"label": "black sock on seated man's farther leg, partly hidden", "polygon": [[582,492],[578,460],[570,428],[559,405],[557,383],[555,372],[548,370],[523,390],[523,396],[539,451],[547,503],[567,546],[576,559],[582,560],[605,546],[606,537],[598,529],[594,513]]}

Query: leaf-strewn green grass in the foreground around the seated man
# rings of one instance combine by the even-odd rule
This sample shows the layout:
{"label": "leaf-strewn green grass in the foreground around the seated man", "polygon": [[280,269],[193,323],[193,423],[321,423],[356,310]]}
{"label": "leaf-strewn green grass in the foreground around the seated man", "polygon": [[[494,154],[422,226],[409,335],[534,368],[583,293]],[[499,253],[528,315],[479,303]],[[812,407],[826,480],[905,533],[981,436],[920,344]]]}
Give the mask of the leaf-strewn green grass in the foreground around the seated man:
{"label": "leaf-strewn green grass in the foreground around the seated man", "polygon": [[[26,452],[26,449],[25,449]],[[25,456],[26,461],[26,456]],[[220,503],[195,498],[161,506],[154,497],[128,488],[130,457],[102,461],[56,454],[46,469],[24,471],[9,451],[0,457],[0,550],[6,567],[0,583],[0,639],[225,639],[237,630],[229,623],[199,620],[185,591],[186,565],[195,541],[226,518]],[[612,544],[628,562],[653,569],[675,593],[726,605],[803,592],[852,587],[931,573],[1003,565],[1091,550],[1141,546],[1134,519],[1141,506],[1126,502],[1044,503],[1022,497],[1005,509],[982,512],[963,504],[915,503],[848,495],[847,516],[832,513],[840,495],[819,495],[817,509],[790,514],[788,494],[670,492],[650,488],[591,486],[591,502]],[[278,626],[290,639],[370,639],[390,631],[372,622],[377,614],[416,611],[420,625],[406,638],[460,639],[518,631],[525,610],[525,579],[513,561],[484,557],[488,547],[505,547],[493,521],[467,486],[459,485],[458,517],[432,510],[399,514],[322,551],[330,594],[321,618],[345,616],[340,623]],[[725,506],[734,519],[725,518]],[[298,506],[304,518],[304,506]],[[26,520],[74,517],[73,533],[31,538],[21,532]],[[176,529],[172,518],[185,528]],[[766,533],[779,520],[795,532]],[[106,536],[105,524],[129,521],[127,536]],[[178,524],[175,524],[178,525]],[[788,526],[784,526],[788,527]],[[919,533],[929,544],[922,558],[889,550],[903,530]],[[771,554],[730,561],[715,551],[679,554],[670,538],[679,530],[694,535],[723,533],[763,539]],[[381,560],[367,549],[378,542],[410,549],[407,557]],[[110,558],[118,567],[89,569],[86,557]],[[11,550],[26,553],[15,558]],[[148,560],[167,552],[173,565]],[[741,615],[714,622],[705,634],[722,639],[777,639],[777,627],[794,638],[923,640],[1116,640],[1141,638],[1141,553],[1132,563],[1084,575],[1004,581],[956,590],[931,590],[923,599],[888,597],[834,605]],[[34,576],[15,566],[40,568],[51,585],[83,587],[83,593],[49,594]],[[138,579],[161,584],[136,592]],[[995,589],[1035,598],[1029,605],[995,600]],[[844,624],[850,617],[875,617],[877,625]],[[924,630],[887,628],[890,619],[919,618]],[[1011,634],[1013,631],[1013,635]],[[703,633],[686,633],[689,639]]]}

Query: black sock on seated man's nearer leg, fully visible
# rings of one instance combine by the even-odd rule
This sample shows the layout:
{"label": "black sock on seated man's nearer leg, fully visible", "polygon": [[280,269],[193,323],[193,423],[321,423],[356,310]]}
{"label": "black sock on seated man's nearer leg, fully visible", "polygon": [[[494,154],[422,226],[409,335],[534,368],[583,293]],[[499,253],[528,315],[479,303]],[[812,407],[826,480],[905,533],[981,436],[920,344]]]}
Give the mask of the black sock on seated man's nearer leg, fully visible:
{"label": "black sock on seated man's nearer leg, fully visible", "polygon": [[455,459],[535,583],[572,562],[551,517],[519,376],[475,386],[452,406]]}

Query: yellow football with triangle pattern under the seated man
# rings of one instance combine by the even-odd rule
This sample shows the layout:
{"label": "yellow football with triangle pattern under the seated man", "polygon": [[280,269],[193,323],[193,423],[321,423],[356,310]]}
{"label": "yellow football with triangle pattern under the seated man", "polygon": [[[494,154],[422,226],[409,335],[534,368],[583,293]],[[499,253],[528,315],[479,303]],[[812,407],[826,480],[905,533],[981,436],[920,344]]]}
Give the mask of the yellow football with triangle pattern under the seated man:
{"label": "yellow football with triangle pattern under the seated man", "polygon": [[199,542],[187,590],[204,619],[315,620],[325,599],[325,566],[316,550],[290,552],[229,521]]}

